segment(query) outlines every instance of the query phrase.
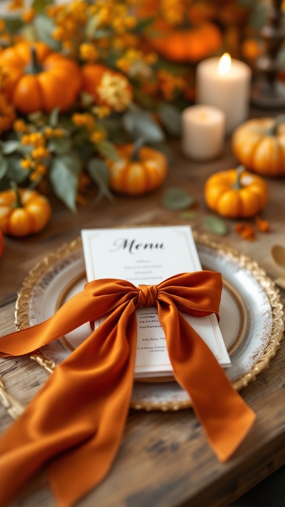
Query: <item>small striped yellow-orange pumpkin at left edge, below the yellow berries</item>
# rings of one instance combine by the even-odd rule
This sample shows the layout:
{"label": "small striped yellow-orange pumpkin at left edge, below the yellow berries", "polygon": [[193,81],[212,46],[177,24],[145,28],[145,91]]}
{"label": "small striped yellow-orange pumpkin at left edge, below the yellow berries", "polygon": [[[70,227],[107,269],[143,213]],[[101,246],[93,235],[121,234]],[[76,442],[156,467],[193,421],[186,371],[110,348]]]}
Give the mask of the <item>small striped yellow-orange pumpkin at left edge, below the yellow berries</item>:
{"label": "small striped yellow-orange pumpkin at left edge, below the yellow berries", "polygon": [[48,199],[31,189],[0,192],[0,229],[11,236],[27,236],[41,231],[51,217]]}

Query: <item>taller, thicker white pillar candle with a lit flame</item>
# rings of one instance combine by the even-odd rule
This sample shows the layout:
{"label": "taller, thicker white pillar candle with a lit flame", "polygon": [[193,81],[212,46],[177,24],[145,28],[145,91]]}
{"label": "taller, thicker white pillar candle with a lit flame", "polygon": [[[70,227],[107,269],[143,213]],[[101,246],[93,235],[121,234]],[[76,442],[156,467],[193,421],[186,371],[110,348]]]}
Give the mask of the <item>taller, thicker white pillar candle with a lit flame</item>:
{"label": "taller, thicker white pillar candle with a lit flame", "polygon": [[226,133],[248,117],[251,68],[228,53],[222,58],[207,58],[197,65],[196,102],[221,108],[226,114]]}

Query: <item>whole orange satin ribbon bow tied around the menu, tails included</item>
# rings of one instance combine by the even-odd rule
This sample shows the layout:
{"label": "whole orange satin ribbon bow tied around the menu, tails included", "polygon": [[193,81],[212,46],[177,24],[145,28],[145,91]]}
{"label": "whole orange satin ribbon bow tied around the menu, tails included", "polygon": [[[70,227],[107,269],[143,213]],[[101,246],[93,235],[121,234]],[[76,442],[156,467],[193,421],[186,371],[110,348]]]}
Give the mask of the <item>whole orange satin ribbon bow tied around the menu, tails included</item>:
{"label": "whole orange satin ribbon bow tied around the menu, tails included", "polygon": [[0,338],[2,356],[26,354],[109,314],[0,440],[0,504],[49,460],[60,507],[72,505],[108,473],[130,405],[138,307],[157,305],[175,379],[191,396],[211,447],[226,460],[255,414],[180,313],[218,314],[221,292],[221,275],[209,271],[182,273],[157,286],[95,280],[45,322]]}

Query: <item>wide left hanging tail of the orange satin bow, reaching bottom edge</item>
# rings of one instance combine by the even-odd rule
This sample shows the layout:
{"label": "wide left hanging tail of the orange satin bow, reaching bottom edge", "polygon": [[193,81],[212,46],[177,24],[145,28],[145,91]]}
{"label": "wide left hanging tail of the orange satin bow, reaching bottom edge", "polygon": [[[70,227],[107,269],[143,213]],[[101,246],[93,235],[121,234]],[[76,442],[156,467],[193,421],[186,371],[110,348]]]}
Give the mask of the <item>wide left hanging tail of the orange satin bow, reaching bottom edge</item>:
{"label": "wide left hanging tail of the orange satin bow, reaching bottom edge", "polygon": [[72,505],[108,473],[129,410],[135,338],[129,301],[56,368],[0,440],[1,506],[47,462],[60,507]]}

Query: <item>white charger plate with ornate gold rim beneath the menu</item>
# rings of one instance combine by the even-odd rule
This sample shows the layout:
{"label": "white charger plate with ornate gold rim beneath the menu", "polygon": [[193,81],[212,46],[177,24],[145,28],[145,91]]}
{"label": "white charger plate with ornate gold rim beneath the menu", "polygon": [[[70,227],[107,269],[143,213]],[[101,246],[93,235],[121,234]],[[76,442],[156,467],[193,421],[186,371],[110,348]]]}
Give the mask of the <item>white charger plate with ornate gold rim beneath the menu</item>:
{"label": "white charger plate with ornate gold rim beneath the menu", "polygon": [[[222,272],[225,284],[242,316],[242,326],[231,349],[233,366],[227,369],[234,388],[241,389],[255,380],[268,367],[269,361],[280,347],[284,328],[280,295],[265,271],[243,253],[212,241],[206,235],[196,233],[195,240],[202,265]],[[55,252],[50,253],[29,272],[19,291],[16,303],[18,329],[37,323],[39,316],[37,316],[37,309],[31,309],[31,302],[37,301],[40,292],[45,291],[47,280],[52,276],[60,276],[61,270],[68,264],[72,263],[74,266],[80,262],[83,262],[82,245],[80,238],[77,238],[72,243],[64,244]],[[81,267],[77,281],[82,279],[82,274]],[[43,280],[44,283],[42,283]],[[68,283],[75,287],[75,277]],[[244,285],[247,285],[247,288],[244,288]],[[69,286],[69,290],[72,286]],[[53,303],[54,310],[54,305],[62,304],[69,294],[66,289],[64,285],[63,292]],[[64,338],[62,340],[64,341]],[[63,348],[62,345],[60,347]],[[54,351],[50,353],[46,347],[34,353],[31,359],[49,373],[52,373],[60,362],[57,353]],[[135,409],[166,411],[180,410],[190,406],[191,400],[188,395],[175,382],[156,384],[135,382],[134,384],[131,407]]]}

